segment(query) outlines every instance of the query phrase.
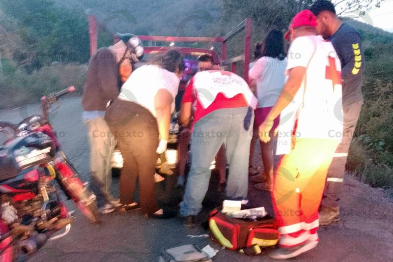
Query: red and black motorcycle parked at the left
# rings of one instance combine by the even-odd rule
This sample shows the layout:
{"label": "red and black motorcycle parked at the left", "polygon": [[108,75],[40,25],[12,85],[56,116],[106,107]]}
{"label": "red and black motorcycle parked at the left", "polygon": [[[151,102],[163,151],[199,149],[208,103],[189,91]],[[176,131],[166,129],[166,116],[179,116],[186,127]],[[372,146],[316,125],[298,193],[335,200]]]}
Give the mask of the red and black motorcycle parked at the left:
{"label": "red and black motorcycle parked at the left", "polygon": [[0,122],[5,137],[0,146],[0,262],[16,259],[19,250],[31,255],[69,233],[75,218],[61,192],[91,222],[99,222],[95,196],[61,150],[48,117],[51,105],[74,90],[42,97],[42,116],[29,116],[18,125]]}

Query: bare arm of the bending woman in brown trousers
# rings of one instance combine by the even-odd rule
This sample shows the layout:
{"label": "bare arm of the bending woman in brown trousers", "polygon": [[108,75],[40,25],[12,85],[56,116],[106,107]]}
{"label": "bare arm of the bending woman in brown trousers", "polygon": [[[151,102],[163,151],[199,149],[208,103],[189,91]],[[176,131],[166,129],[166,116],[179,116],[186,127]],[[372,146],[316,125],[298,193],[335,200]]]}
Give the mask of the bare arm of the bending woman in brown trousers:
{"label": "bare arm of the bending woman in brown trousers", "polygon": [[164,88],[158,90],[154,97],[154,107],[157,113],[158,133],[161,140],[168,141],[171,105],[173,102],[172,94]]}

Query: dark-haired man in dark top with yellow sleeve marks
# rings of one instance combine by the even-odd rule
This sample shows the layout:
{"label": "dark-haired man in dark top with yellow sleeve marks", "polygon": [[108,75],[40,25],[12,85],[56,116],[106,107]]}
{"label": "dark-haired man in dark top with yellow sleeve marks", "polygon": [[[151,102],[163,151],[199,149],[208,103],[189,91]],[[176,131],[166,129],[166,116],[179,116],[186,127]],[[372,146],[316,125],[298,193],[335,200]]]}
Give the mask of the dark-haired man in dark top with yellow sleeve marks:
{"label": "dark-haired man in dark top with yellow sleeve marks", "polygon": [[363,104],[362,74],[365,58],[362,39],[352,26],[338,19],[331,1],[317,0],[309,8],[317,17],[317,32],[332,41],[341,61],[343,132],[333,162],[329,167],[319,211],[319,225],[328,225],[339,218],[339,199],[345,164],[353,133]]}

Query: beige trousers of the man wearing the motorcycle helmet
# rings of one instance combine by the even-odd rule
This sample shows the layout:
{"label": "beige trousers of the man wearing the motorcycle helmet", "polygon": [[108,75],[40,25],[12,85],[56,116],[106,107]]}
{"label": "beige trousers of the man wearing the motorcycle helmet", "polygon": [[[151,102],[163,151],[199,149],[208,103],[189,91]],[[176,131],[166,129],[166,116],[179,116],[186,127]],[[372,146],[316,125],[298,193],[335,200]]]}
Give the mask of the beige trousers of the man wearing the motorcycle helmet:
{"label": "beige trousers of the man wearing the motorcycle helmet", "polygon": [[97,197],[98,207],[103,207],[114,199],[111,194],[111,157],[115,141],[104,117],[84,121],[90,144],[90,188]]}

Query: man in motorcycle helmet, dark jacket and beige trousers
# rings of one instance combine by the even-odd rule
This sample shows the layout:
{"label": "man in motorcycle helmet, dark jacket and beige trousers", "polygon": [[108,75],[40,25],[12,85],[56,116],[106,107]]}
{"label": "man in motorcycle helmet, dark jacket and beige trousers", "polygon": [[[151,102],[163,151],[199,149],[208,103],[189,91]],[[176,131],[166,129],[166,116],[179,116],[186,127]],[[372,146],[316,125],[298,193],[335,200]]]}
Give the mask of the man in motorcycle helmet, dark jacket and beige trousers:
{"label": "man in motorcycle helmet, dark jacket and beige trousers", "polygon": [[90,144],[91,189],[103,214],[120,206],[110,191],[110,159],[116,144],[104,120],[105,109],[109,101],[117,98],[122,83],[132,72],[132,65],[143,55],[138,37],[132,34],[119,36],[119,42],[99,49],[90,58],[82,100]]}

